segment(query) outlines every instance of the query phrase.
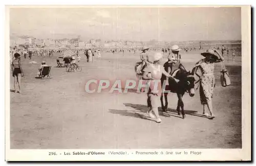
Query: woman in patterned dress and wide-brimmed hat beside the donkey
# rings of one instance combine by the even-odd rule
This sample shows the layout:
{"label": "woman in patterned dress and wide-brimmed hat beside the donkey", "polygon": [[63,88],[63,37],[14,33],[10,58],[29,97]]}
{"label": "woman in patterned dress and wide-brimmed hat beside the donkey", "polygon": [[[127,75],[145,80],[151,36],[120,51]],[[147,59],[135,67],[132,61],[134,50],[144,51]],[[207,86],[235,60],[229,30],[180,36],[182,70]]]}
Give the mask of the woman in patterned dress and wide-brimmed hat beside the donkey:
{"label": "woman in patterned dress and wide-brimmed hat beside the donkey", "polygon": [[[217,56],[216,54],[219,56]],[[207,105],[211,118],[214,118],[214,112],[212,109],[211,98],[214,93],[215,87],[215,76],[214,76],[214,65],[217,62],[224,60],[223,56],[215,49],[208,49],[206,52],[201,53],[205,58],[196,63],[201,70],[202,76],[200,81],[200,100],[203,105],[203,115],[205,114],[205,105]]]}

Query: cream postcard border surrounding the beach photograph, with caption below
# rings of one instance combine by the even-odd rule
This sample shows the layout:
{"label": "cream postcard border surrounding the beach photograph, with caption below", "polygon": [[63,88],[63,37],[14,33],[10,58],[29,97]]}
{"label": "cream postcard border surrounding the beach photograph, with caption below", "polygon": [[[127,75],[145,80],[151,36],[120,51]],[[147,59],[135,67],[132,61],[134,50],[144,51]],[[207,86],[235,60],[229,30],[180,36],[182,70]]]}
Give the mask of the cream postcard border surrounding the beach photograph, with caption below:
{"label": "cream postcard border surrounding the beach photograph, with caption below", "polygon": [[[9,57],[9,8],[6,7],[5,25],[5,53]],[[31,7],[31,6],[29,6]],[[45,6],[47,7],[47,6]],[[49,6],[48,6],[49,7]],[[56,6],[54,6],[56,7]],[[62,6],[63,7],[63,6]],[[67,7],[67,6],[66,6]],[[100,7],[100,6],[97,6]],[[140,6],[141,7],[141,6]],[[166,7],[166,6],[164,6]],[[177,6],[175,6],[177,7]],[[179,6],[180,7],[180,6]],[[186,6],[191,7],[191,6]],[[199,7],[199,6],[197,6]],[[205,6],[204,6],[205,7]],[[227,6],[225,6],[227,7]],[[5,58],[5,124],[6,124],[6,160],[7,161],[184,161],[184,160],[251,160],[251,25],[250,6],[241,6],[242,27],[242,149],[94,149],[94,150],[14,150],[10,149],[10,66],[9,58]],[[126,155],[113,155],[109,152],[126,152]],[[157,155],[137,155],[138,152],[158,152]],[[172,155],[167,152],[181,152],[181,155]],[[201,152],[200,155],[186,155],[184,151]],[[49,155],[56,152],[57,155]],[[105,155],[64,155],[73,152],[104,152]],[[161,154],[163,152],[163,154]],[[132,154],[135,153],[135,154]],[[159,154],[160,153],[160,154]]]}

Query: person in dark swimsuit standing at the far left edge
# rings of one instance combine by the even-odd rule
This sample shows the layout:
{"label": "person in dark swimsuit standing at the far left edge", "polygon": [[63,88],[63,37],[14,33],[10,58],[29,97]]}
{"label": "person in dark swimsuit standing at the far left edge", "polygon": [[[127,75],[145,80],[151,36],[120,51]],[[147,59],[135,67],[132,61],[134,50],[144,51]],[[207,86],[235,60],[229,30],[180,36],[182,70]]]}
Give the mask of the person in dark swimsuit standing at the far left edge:
{"label": "person in dark swimsuit standing at the far left edge", "polygon": [[[15,59],[12,61],[12,76],[14,77],[14,92],[21,92],[21,81],[24,76],[22,64],[20,63],[20,54],[14,54]],[[16,84],[18,83],[18,88],[16,88]]]}

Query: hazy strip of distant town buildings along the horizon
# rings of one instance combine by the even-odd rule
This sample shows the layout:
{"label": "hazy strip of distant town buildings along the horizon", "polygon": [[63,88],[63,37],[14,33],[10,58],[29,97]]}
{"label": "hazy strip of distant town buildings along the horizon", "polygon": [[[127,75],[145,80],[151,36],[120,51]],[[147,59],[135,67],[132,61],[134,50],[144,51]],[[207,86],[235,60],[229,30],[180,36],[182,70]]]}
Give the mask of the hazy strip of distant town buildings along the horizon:
{"label": "hazy strip of distant town buildings along the horizon", "polygon": [[82,41],[78,38],[63,38],[63,39],[36,39],[32,37],[16,37],[10,38],[10,46],[25,46],[27,48],[47,47],[47,48],[59,48],[59,47],[71,47],[71,48],[114,48],[114,47],[142,47],[142,46],[170,46],[173,44],[178,45],[214,45],[214,44],[228,44],[228,43],[241,43],[241,40],[212,40],[212,41],[129,41],[129,40],[106,40],[90,39],[89,41]]}

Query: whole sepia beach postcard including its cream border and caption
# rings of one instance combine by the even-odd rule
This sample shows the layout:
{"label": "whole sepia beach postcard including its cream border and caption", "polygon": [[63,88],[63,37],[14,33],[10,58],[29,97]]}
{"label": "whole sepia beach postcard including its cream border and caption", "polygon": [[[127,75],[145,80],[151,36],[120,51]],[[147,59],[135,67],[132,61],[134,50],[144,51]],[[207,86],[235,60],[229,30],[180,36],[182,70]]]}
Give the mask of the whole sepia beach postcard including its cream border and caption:
{"label": "whole sepia beach postcard including its cream border and caption", "polygon": [[6,161],[250,161],[250,6],[6,6]]}

